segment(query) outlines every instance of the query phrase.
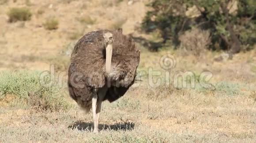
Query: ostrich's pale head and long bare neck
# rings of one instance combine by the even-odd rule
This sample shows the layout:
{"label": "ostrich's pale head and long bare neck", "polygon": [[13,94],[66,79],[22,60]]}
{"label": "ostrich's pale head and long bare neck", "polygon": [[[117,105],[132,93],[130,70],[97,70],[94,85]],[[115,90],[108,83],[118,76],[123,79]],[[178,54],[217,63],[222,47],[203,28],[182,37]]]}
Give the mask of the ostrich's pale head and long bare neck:
{"label": "ostrich's pale head and long bare neck", "polygon": [[112,59],[112,52],[113,52],[113,34],[110,32],[104,33],[103,37],[105,39],[106,43],[106,63],[105,63],[105,69],[107,75],[111,72],[111,59]]}

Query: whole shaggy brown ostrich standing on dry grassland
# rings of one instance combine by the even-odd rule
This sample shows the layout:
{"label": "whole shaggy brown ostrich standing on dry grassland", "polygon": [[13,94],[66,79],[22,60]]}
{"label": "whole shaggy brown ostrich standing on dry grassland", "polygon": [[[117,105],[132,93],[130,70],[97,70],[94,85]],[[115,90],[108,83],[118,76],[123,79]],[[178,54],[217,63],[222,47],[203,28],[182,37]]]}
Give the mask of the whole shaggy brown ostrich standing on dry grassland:
{"label": "whole shaggy brown ostrich standing on dry grassland", "polygon": [[70,97],[87,112],[92,108],[98,132],[102,101],[122,97],[135,81],[140,51],[122,29],[98,30],[75,45],[68,69]]}

